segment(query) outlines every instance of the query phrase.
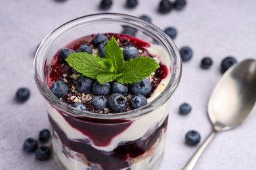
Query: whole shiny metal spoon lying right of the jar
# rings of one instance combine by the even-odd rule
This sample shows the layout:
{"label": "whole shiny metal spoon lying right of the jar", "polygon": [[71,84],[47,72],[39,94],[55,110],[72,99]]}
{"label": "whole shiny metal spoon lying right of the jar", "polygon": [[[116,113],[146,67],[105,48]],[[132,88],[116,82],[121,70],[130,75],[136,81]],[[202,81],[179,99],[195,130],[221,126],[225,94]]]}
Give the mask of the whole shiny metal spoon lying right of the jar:
{"label": "whole shiny metal spoon lying right of the jar", "polygon": [[[203,150],[218,131],[232,129],[244,122],[256,102],[256,60],[246,59],[232,65],[211,93],[208,116],[213,130],[190,158],[183,170],[194,168]],[[254,107],[255,108],[255,107]]]}

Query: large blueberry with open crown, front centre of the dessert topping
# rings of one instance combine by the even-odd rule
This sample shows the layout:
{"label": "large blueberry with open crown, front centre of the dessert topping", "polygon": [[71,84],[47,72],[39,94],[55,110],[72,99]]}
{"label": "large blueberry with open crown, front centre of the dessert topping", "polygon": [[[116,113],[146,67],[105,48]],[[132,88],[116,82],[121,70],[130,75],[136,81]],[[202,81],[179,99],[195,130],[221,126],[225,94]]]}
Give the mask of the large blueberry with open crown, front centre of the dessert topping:
{"label": "large blueberry with open crown, front centre of the dessert topping", "polygon": [[120,93],[113,93],[108,97],[107,105],[113,112],[123,112],[126,109],[126,99]]}

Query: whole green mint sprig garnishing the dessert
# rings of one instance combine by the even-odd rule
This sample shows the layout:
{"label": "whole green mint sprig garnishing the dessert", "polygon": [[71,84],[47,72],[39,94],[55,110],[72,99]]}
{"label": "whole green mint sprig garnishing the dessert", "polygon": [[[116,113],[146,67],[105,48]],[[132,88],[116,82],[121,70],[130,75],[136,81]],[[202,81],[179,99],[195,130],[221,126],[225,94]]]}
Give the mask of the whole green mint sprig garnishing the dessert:
{"label": "whole green mint sprig garnishing the dessert", "polygon": [[106,58],[85,52],[74,52],[66,61],[70,67],[84,76],[96,79],[100,84],[116,80],[121,84],[131,84],[146,78],[160,65],[155,59],[139,57],[123,61],[123,52],[112,37],[105,47]]}

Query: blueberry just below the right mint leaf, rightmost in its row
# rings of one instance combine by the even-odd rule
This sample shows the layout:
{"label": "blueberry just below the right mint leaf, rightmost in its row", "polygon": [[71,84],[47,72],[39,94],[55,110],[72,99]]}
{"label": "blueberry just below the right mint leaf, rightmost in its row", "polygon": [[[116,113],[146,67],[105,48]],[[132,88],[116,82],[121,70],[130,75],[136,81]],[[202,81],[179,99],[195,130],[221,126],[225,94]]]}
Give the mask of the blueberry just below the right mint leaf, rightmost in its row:
{"label": "blueberry just below the right mint leaf, rightmost in its row", "polygon": [[133,84],[129,84],[129,91],[133,94],[141,93],[144,96],[147,96],[152,89],[152,85],[148,78],[143,78],[139,82],[134,82]]}

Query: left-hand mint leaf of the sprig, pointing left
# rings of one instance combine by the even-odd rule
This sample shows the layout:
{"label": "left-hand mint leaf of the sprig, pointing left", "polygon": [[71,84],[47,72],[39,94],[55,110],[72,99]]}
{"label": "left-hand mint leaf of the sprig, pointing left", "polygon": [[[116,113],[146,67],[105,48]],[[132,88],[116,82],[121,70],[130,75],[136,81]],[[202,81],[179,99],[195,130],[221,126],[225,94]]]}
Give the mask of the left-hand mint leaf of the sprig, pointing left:
{"label": "left-hand mint leaf of the sprig, pointing left", "polygon": [[102,67],[99,63],[102,58],[87,54],[86,52],[74,52],[65,60],[70,67],[89,78],[96,79],[97,75],[108,71],[106,67]]}

